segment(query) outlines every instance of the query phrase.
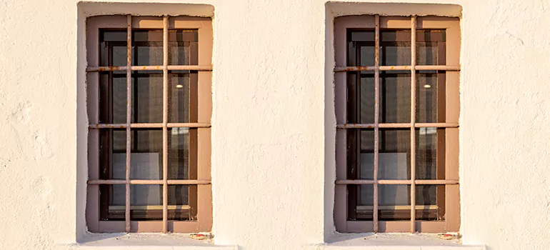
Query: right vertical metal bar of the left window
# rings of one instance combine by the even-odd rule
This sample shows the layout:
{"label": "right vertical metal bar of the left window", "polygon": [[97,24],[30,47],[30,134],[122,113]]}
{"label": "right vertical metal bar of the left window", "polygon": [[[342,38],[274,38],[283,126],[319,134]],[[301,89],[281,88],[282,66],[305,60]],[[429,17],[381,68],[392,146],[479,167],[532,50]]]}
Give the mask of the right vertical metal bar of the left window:
{"label": "right vertical metal bar of the left window", "polygon": [[168,231],[168,16],[162,19],[162,232]]}

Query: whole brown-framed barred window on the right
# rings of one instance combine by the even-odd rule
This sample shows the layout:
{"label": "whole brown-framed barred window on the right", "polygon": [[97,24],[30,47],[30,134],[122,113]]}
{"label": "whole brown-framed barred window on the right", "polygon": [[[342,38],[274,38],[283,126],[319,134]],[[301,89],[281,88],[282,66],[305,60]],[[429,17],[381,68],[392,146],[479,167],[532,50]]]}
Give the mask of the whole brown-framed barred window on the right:
{"label": "whole brown-framed barred window on the right", "polygon": [[459,19],[342,16],[334,34],[336,229],[458,231]]}

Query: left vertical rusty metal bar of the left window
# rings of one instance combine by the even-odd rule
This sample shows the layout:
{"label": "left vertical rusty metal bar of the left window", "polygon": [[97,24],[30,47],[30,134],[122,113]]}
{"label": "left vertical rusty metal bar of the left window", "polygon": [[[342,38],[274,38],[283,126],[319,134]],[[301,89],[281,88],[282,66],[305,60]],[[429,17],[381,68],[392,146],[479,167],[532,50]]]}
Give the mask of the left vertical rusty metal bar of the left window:
{"label": "left vertical rusty metal bar of the left window", "polygon": [[130,232],[131,15],[126,16],[126,232]]}

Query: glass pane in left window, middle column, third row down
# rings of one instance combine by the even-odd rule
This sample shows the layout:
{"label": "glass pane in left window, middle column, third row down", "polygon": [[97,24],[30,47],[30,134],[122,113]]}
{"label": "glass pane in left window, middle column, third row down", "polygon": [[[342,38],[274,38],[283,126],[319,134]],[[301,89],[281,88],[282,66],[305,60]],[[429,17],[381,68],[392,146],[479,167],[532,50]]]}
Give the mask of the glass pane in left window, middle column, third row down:
{"label": "glass pane in left window, middle column, third row down", "polygon": [[131,130],[130,162],[130,179],[162,179],[162,129]]}

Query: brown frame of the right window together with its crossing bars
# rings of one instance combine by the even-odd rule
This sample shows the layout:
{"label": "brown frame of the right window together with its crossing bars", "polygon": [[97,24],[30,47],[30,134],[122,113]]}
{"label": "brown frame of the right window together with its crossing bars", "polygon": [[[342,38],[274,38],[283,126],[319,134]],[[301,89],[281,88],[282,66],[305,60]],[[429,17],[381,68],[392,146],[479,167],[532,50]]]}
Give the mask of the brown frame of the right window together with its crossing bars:
{"label": "brown frame of the right window together with its crossing bars", "polygon": [[[372,66],[348,66],[347,45],[348,29],[371,29],[375,31],[375,64]],[[410,30],[411,40],[416,40],[417,29],[439,29],[446,31],[446,62],[444,65],[416,65],[416,44],[411,42],[411,64],[407,66],[379,66],[379,34],[380,29]],[[336,230],[346,233],[359,232],[422,232],[441,233],[459,231],[460,197],[459,197],[459,74],[460,74],[460,21],[457,18],[439,16],[341,16],[334,21],[334,54],[336,67],[335,79],[335,113],[336,113],[336,194],[334,202],[334,221]],[[393,70],[411,71],[411,123],[381,124],[379,123],[379,72]],[[416,122],[416,71],[437,70],[446,71],[444,121],[437,123]],[[348,71],[374,71],[375,101],[374,124],[348,124],[347,119],[347,74]],[[415,129],[436,127],[444,129],[444,176],[445,179],[415,179]],[[378,179],[378,141],[380,128],[411,129],[411,176],[406,180]],[[347,129],[374,130],[374,179],[357,179],[348,171],[347,159]],[[354,194],[348,194],[348,185],[374,185],[374,206],[372,221],[350,220],[349,214],[354,213],[350,201],[356,199]],[[378,219],[378,185],[407,184],[411,186],[411,220],[410,221],[379,221]],[[445,185],[445,219],[444,221],[416,221],[416,185]]]}

